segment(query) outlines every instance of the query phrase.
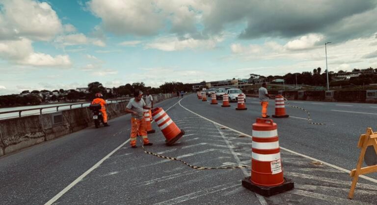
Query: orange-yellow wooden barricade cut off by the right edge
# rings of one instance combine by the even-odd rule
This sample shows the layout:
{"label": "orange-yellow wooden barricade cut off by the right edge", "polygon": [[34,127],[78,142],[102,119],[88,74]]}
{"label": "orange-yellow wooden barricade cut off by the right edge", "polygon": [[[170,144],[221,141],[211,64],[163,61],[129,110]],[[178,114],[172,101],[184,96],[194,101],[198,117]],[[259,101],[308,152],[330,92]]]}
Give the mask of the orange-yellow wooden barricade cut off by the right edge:
{"label": "orange-yellow wooden barricade cut off by the right edge", "polygon": [[353,180],[350,188],[350,193],[348,194],[349,199],[353,198],[353,192],[355,191],[359,175],[377,172],[377,165],[361,167],[364,161],[365,151],[367,150],[368,146],[373,146],[377,154],[377,133],[374,133],[372,128],[367,128],[366,134],[361,135],[359,142],[357,143],[357,147],[361,148],[361,151],[359,160],[356,164],[356,169],[352,169],[350,172],[350,176],[353,177]]}

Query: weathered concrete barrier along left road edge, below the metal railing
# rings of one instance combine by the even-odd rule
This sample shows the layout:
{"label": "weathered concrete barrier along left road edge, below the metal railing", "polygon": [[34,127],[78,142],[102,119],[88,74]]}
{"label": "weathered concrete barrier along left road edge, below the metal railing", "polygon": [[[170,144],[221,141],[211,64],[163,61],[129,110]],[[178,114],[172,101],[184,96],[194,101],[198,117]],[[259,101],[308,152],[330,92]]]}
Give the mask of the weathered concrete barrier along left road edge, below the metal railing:
{"label": "weathered concrete barrier along left road edge, below the metal railing", "polygon": [[[154,95],[154,103],[173,95]],[[124,114],[128,101],[107,106],[108,119]],[[52,140],[94,125],[88,108],[0,120],[0,156]]]}

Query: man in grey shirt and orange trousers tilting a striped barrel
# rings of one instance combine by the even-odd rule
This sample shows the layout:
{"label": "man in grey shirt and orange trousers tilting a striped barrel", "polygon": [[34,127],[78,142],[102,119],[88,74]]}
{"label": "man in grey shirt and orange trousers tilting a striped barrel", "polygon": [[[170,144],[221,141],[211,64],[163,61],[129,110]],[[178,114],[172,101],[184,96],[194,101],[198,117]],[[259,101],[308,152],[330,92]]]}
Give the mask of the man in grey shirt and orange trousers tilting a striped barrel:
{"label": "man in grey shirt and orange trousers tilting a striped barrel", "polygon": [[130,144],[132,148],[136,148],[137,135],[143,138],[144,146],[151,146],[153,144],[148,140],[147,126],[144,118],[144,109],[150,110],[151,108],[146,106],[142,97],[143,92],[136,89],[134,91],[134,98],[131,98],[126,106],[126,112],[131,113]]}

